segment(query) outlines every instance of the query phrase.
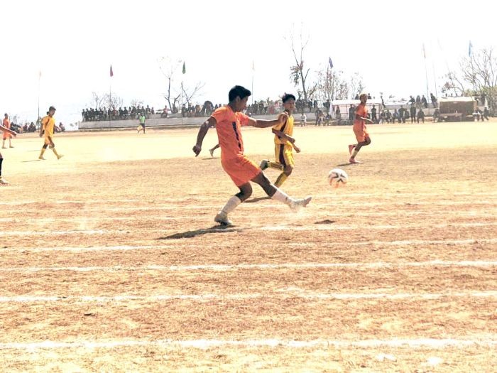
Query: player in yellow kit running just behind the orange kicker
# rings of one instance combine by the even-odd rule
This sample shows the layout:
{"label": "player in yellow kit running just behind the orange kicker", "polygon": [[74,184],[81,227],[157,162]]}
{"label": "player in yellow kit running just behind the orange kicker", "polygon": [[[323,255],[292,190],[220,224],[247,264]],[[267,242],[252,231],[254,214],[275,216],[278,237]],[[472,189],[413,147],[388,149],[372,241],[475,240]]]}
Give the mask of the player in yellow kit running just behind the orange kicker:
{"label": "player in yellow kit running just behind the orange kicker", "polygon": [[293,161],[293,149],[300,153],[300,148],[295,145],[293,136],[293,110],[295,110],[295,96],[293,94],[285,93],[281,98],[285,113],[288,115],[286,120],[281,124],[273,126],[274,144],[275,144],[275,162],[263,159],[261,162],[261,169],[275,168],[283,171],[276,179],[274,185],[280,188],[285,180],[292,174],[295,163]]}

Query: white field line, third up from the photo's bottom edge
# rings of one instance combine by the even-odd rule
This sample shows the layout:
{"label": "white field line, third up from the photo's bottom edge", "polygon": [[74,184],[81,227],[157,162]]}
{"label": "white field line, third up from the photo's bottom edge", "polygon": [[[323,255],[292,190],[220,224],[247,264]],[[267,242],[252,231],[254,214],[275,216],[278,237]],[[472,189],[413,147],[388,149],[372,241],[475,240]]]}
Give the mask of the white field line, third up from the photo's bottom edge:
{"label": "white field line, third up from the photo's bottom edge", "polygon": [[73,272],[121,272],[121,271],[238,271],[244,269],[395,269],[408,267],[447,266],[447,267],[492,267],[497,261],[406,261],[371,263],[281,263],[281,264],[198,264],[190,266],[47,266],[47,267],[1,267],[1,272],[34,273],[44,271]]}

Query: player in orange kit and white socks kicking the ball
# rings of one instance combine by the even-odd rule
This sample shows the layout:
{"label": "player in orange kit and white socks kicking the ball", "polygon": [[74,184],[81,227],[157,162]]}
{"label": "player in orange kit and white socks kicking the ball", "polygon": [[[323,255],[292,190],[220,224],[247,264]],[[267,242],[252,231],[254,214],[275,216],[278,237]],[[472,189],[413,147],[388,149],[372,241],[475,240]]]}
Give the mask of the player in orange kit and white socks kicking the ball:
{"label": "player in orange kit and white socks kicking the ball", "polygon": [[251,92],[240,85],[231,88],[228,94],[229,104],[219,107],[207,121],[204,121],[197,135],[197,144],[193,146],[193,152],[195,156],[198,156],[200,151],[202,151],[202,141],[207,131],[212,126],[216,127],[219,147],[221,148],[222,167],[240,189],[240,192],[229,198],[226,205],[214,217],[214,221],[222,225],[233,224],[228,219],[228,215],[241,202],[244,202],[251,196],[251,181],[261,185],[261,188],[263,188],[270,198],[285,203],[294,211],[300,210],[300,207],[307,206],[311,200],[310,197],[295,200],[284,193],[283,190],[276,188],[266,178],[261,168],[244,155],[244,140],[241,137],[242,126],[266,128],[281,124],[288,118],[288,114],[286,113],[281,113],[278,119],[274,120],[258,120],[246,116],[241,111],[246,109],[247,100],[250,95]]}

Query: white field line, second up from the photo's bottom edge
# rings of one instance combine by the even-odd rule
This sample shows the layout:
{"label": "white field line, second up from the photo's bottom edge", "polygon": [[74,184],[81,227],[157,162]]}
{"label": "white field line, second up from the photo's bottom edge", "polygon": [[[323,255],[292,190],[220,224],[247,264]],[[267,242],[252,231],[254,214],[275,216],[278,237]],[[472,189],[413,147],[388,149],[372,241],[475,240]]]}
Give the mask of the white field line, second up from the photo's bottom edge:
{"label": "white field line, second up from the photo's bottom edge", "polygon": [[439,298],[496,298],[497,291],[464,291],[447,293],[312,293],[296,289],[280,289],[273,293],[248,294],[159,294],[155,296],[0,296],[0,303],[35,303],[35,302],[119,302],[119,301],[226,301],[259,298],[300,298],[300,299],[381,299],[388,301],[431,300]]}

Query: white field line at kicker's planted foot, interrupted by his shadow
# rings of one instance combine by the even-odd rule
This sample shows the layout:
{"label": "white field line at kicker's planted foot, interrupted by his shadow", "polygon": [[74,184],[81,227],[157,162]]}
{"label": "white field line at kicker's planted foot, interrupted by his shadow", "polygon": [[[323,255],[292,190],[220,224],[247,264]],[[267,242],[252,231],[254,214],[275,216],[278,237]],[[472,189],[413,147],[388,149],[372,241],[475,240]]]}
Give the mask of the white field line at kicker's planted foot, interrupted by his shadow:
{"label": "white field line at kicker's planted foot, interrupted by his shadow", "polygon": [[[411,224],[411,225],[312,225],[312,226],[296,226],[296,225],[266,225],[264,227],[246,227],[249,230],[263,230],[263,231],[334,231],[334,230],[381,230],[381,229],[413,229],[413,228],[447,228],[447,227],[494,227],[497,222],[469,222],[469,223],[448,223],[448,224]],[[236,229],[236,227],[234,228]],[[60,236],[67,234],[135,234],[135,229],[88,229],[88,230],[62,230],[62,231],[3,231],[4,236]],[[144,229],[141,229],[143,232]],[[205,229],[206,233],[216,232],[215,229]],[[218,229],[219,232],[230,232],[230,229]],[[146,232],[158,232],[157,229],[146,229]],[[160,232],[158,232],[160,234]]]}

